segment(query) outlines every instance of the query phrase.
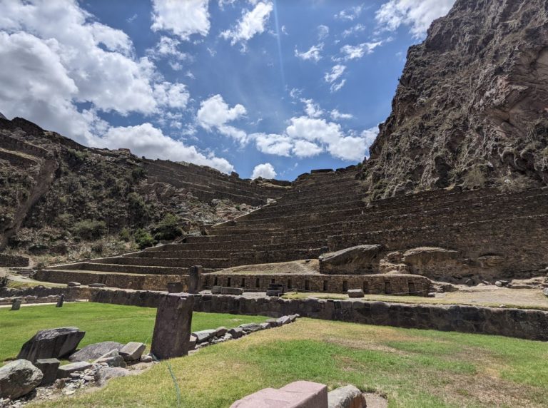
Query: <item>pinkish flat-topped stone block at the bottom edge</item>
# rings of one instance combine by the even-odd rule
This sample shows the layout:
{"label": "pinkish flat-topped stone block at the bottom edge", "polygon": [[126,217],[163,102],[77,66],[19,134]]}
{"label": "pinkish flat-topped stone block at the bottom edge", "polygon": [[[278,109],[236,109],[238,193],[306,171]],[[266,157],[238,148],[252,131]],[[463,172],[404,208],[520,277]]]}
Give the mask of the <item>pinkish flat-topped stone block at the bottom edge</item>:
{"label": "pinkish flat-topped stone block at the bottom edge", "polygon": [[236,401],[230,408],[328,408],[328,387],[296,381],[280,389],[265,388]]}

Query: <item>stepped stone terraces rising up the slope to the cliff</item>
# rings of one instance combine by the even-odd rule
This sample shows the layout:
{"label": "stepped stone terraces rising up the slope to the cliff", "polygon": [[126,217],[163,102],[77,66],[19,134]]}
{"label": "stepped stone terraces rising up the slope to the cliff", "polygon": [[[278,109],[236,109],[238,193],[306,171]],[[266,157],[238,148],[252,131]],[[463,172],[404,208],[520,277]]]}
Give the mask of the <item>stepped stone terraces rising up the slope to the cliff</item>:
{"label": "stepped stone terraces rising up the slope to the cliff", "polygon": [[[283,283],[310,291],[422,292],[422,279],[462,283],[544,274],[548,265],[548,189],[519,193],[496,189],[432,190],[368,203],[355,168],[300,177],[276,203],[203,228],[180,243],[138,253],[51,267],[39,279],[76,280],[111,286],[164,290],[186,282],[188,267],[205,268],[203,287],[265,289]],[[368,270],[352,275],[292,264],[269,273],[264,265],[317,258],[354,245],[383,245]],[[275,269],[275,267],[272,267]],[[421,279],[419,279],[421,278]],[[390,285],[386,282],[390,281]],[[401,282],[400,282],[401,281]]]}

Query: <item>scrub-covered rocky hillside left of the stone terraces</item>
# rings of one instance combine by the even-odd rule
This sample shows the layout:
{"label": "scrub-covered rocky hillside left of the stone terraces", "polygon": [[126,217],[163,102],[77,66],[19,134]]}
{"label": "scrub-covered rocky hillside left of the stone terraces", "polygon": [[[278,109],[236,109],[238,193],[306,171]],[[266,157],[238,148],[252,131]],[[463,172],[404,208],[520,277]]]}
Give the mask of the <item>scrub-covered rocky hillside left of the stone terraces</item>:
{"label": "scrub-covered rocky hillside left of the stone terraces", "polygon": [[58,260],[127,252],[235,218],[285,184],[86,148],[0,118],[0,250]]}

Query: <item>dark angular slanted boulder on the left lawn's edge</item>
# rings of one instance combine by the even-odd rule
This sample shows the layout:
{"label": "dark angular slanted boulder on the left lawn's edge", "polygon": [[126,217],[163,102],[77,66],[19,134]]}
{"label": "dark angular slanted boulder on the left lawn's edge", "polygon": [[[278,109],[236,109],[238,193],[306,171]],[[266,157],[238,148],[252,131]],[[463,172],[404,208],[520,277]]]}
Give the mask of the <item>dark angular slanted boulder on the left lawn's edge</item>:
{"label": "dark angular slanted boulder on the left lawn's edge", "polygon": [[17,358],[35,362],[37,359],[71,355],[84,335],[86,332],[82,332],[78,327],[40,330],[21,347]]}

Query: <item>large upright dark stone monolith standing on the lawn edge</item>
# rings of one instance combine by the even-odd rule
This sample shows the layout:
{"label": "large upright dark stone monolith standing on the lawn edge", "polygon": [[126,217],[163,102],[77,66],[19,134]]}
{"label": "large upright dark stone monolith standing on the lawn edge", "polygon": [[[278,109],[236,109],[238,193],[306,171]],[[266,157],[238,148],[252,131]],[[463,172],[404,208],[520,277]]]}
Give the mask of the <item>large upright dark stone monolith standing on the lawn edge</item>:
{"label": "large upright dark stone monolith standing on the lawn edge", "polygon": [[158,359],[188,355],[194,298],[168,294],[161,298],[156,312],[151,353]]}

